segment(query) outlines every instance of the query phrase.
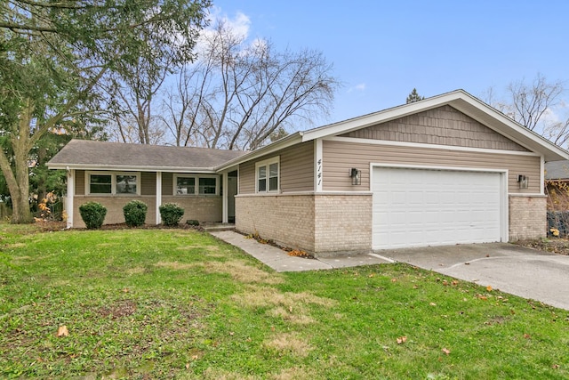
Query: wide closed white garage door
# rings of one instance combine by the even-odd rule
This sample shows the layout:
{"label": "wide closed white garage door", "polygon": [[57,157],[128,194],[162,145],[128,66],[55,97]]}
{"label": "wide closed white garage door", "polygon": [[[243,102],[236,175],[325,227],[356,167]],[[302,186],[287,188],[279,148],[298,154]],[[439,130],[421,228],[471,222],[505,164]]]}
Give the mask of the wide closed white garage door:
{"label": "wide closed white garage door", "polygon": [[373,168],[373,249],[501,241],[501,174]]}

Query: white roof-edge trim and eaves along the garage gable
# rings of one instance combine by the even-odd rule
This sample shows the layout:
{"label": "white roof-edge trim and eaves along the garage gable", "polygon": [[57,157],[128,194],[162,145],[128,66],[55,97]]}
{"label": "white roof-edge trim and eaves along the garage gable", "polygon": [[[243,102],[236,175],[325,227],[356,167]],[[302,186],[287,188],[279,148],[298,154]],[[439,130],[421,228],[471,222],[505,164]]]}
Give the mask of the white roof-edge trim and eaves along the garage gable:
{"label": "white roof-edge trim and eaves along the garage gable", "polygon": [[525,128],[524,125],[520,125],[512,118],[507,117],[497,109],[493,109],[484,101],[478,100],[476,97],[470,95],[464,90],[456,90],[451,93],[443,93],[441,95],[433,96],[422,101],[415,101],[413,103],[384,109],[361,117],[350,118],[339,123],[324,125],[314,129],[309,129],[308,131],[290,134],[279,141],[260,148],[259,150],[253,150],[240,158],[234,158],[220,166],[220,169],[228,168],[229,166],[234,166],[241,162],[258,158],[299,142],[313,141],[320,138],[349,133],[357,129],[386,123],[418,112],[436,109],[444,105],[449,105],[453,107],[453,109],[457,109],[463,114],[472,117],[482,125],[493,129],[496,133],[500,133],[511,141],[517,142],[517,144],[525,147],[525,149],[539,153],[545,158],[545,161],[569,159],[569,152],[545,139],[540,134],[530,131]]}

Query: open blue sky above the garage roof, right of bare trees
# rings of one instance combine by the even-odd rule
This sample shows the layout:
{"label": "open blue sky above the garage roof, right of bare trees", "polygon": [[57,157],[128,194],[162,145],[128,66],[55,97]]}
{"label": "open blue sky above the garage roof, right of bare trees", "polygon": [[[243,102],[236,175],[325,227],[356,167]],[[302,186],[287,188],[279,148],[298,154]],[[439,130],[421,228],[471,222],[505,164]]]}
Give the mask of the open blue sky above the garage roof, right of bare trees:
{"label": "open blue sky above the garage roof, right of bare trees", "polygon": [[[327,124],[456,89],[484,100],[512,81],[569,80],[569,2],[213,0],[277,48],[317,49],[342,87]],[[569,85],[569,81],[566,85]],[[307,127],[309,125],[306,125]],[[303,129],[303,128],[302,128]]]}

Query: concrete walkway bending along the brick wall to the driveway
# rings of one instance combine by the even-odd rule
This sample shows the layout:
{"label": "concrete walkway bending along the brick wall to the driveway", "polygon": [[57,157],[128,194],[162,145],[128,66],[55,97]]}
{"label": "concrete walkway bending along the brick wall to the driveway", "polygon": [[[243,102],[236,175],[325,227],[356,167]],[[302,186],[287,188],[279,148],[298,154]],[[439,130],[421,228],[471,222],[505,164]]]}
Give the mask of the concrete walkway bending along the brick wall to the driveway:
{"label": "concrete walkway bending along the brick wall to the driveway", "polygon": [[240,233],[232,230],[212,231],[214,237],[221,239],[232,246],[243,249],[261,263],[265,263],[275,271],[315,271],[334,268],[346,268],[360,265],[393,263],[387,257],[381,255],[353,255],[341,257],[322,257],[307,259],[290,256],[282,249],[260,244],[255,239],[247,239]]}

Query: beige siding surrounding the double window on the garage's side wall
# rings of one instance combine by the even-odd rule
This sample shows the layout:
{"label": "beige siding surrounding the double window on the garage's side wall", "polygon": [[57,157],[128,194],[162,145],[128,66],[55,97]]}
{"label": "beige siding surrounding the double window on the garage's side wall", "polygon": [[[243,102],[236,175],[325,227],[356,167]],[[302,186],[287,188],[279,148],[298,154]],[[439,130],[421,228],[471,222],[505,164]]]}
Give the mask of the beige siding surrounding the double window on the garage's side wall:
{"label": "beige siding surrounding the double window on the garage's side wall", "polygon": [[314,142],[303,142],[239,166],[239,194],[255,192],[255,163],[280,156],[282,193],[314,190]]}

